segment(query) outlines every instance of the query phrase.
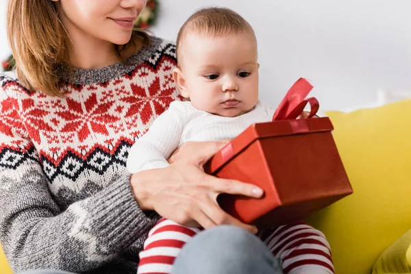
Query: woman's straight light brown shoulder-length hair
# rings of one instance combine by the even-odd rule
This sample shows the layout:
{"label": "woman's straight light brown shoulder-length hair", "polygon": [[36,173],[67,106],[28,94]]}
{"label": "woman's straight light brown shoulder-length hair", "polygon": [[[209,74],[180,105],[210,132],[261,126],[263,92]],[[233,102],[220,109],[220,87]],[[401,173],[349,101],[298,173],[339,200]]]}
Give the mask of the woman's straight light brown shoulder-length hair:
{"label": "woman's straight light brown shoulder-length hair", "polygon": [[[62,96],[58,67],[70,64],[72,45],[58,16],[58,5],[50,0],[8,0],[7,29],[18,81],[29,90]],[[136,38],[149,45],[149,35],[135,29],[127,45],[116,45],[119,60],[125,62],[121,51]]]}

